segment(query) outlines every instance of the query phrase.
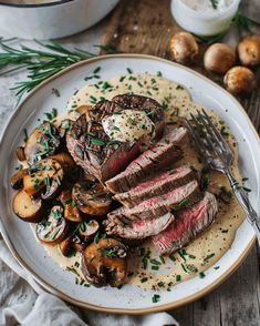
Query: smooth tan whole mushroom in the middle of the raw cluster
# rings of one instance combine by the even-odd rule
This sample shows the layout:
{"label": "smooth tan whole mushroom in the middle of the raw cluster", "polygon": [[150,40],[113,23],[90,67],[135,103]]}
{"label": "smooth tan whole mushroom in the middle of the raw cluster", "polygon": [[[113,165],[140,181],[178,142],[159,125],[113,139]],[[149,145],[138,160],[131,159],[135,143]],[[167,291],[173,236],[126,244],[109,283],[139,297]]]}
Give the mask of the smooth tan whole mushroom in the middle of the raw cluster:
{"label": "smooth tan whole mushroom in the middle of the raw cluster", "polygon": [[225,43],[210,45],[204,54],[204,65],[207,71],[223,74],[236,62],[235,50]]}

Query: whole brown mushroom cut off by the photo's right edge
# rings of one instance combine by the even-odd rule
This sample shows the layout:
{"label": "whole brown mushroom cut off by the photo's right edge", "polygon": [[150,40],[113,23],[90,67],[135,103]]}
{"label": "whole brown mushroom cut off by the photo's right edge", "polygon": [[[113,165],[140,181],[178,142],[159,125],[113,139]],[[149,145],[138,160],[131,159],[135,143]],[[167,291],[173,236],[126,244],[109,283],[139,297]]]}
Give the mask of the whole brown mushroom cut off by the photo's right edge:
{"label": "whole brown mushroom cut off by the photo's right edge", "polygon": [[243,65],[260,64],[260,35],[248,35],[238,44],[238,55]]}

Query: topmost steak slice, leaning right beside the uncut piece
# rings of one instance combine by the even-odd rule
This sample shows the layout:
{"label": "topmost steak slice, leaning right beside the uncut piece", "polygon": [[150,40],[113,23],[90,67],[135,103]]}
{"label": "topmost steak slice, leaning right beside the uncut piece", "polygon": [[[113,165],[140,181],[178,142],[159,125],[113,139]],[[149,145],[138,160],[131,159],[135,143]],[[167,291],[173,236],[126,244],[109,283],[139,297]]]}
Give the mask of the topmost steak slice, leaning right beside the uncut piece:
{"label": "topmost steak slice, leaning right beside the uncut piece", "polygon": [[179,145],[186,135],[185,128],[168,130],[160,141],[142,153],[125,171],[106,181],[107,189],[112,193],[126,192],[155,171],[167,169],[181,156]]}

